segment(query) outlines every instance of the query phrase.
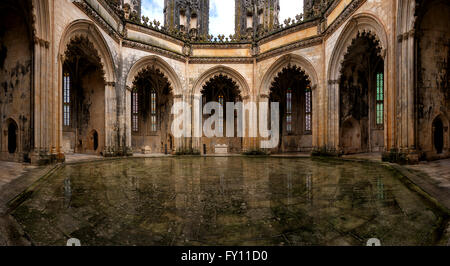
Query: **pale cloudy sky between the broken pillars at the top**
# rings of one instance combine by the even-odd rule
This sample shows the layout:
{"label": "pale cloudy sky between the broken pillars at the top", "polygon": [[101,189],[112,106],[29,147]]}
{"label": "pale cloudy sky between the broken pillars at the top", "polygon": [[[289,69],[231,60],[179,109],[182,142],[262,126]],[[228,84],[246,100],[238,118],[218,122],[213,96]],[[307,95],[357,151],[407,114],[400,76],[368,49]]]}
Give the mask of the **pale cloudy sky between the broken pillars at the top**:
{"label": "pale cloudy sky between the broken pillars at the top", "polygon": [[[143,0],[142,14],[164,23],[164,0]],[[303,12],[303,1],[301,0],[280,0],[280,23],[288,17],[295,18],[297,14]],[[210,0],[209,12],[210,34],[217,36],[223,34],[229,36],[234,34],[234,0]]]}

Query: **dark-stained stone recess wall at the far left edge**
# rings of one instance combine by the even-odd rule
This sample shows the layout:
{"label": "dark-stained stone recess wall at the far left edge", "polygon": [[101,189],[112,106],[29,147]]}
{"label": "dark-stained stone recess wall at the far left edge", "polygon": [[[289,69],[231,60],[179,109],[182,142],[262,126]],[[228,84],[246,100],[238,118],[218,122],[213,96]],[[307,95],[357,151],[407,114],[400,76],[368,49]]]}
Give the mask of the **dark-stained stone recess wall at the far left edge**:
{"label": "dark-stained stone recess wall at the far left edge", "polygon": [[[20,1],[22,2],[22,1]],[[22,3],[23,4],[23,3]],[[0,159],[28,161],[32,144],[32,43],[27,11],[0,6]],[[15,123],[17,149],[8,151],[8,126]]]}

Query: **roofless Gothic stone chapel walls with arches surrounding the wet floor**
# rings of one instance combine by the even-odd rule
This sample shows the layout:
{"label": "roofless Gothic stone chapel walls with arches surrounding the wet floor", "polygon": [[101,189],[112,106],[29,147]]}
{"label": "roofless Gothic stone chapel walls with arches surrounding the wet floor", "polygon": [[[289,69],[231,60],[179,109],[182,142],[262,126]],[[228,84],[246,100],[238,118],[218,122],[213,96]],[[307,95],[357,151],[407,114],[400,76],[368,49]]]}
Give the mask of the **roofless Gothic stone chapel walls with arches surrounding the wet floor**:
{"label": "roofless Gothic stone chapel walls with arches surrounding the wet floor", "polygon": [[235,0],[230,36],[209,34],[209,0],[165,0],[164,21],[141,0],[0,1],[0,160],[262,149],[174,136],[172,106],[195,101],[278,102],[271,154],[449,158],[450,1],[295,1],[281,21],[278,0]]}

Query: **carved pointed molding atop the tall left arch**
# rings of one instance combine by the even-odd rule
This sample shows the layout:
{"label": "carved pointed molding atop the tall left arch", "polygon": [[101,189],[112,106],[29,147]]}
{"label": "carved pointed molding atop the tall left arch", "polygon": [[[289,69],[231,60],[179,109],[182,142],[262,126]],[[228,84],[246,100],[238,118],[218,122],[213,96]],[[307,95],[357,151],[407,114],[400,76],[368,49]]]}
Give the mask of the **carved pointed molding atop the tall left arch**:
{"label": "carved pointed molding atop the tall left arch", "polygon": [[103,66],[106,85],[114,85],[116,75],[111,50],[97,26],[88,20],[76,20],[66,27],[59,44],[58,54],[61,65],[65,60],[68,44],[76,37],[84,37],[94,45]]}

